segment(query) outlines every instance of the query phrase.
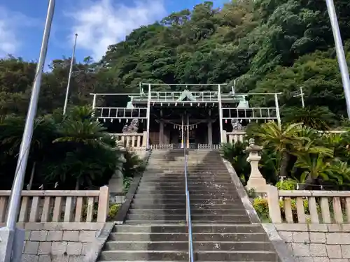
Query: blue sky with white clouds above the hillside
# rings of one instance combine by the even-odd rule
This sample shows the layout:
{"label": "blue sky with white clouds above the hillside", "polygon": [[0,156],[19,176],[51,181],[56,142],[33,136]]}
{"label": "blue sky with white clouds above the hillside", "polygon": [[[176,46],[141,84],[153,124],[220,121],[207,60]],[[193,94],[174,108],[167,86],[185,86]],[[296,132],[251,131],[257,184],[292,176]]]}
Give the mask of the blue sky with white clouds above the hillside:
{"label": "blue sky with white clouds above the hillside", "polygon": [[[47,60],[70,57],[78,34],[76,58],[102,57],[141,25],[174,11],[193,8],[200,0],[56,0]],[[215,0],[221,6],[225,0]],[[36,60],[41,46],[48,0],[0,0],[0,57],[13,54]]]}

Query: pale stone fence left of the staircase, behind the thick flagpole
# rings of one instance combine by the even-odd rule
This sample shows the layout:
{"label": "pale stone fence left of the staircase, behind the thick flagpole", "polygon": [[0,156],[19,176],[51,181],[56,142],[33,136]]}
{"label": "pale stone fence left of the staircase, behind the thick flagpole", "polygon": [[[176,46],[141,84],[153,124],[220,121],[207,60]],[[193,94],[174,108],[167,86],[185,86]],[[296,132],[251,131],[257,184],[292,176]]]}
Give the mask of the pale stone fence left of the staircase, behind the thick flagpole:
{"label": "pale stone fence left of the staircase, behind the thick flagpole", "polygon": [[[6,220],[10,191],[0,191],[0,223]],[[105,222],[109,187],[99,190],[24,190],[18,222]]]}

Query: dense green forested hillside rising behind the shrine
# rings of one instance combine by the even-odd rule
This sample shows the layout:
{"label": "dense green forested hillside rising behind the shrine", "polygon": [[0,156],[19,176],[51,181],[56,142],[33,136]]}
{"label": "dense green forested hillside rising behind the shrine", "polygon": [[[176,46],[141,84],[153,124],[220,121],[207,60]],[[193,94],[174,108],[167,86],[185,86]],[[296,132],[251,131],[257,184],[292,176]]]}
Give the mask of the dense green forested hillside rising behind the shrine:
{"label": "dense green forested hillside rising behind the shrine", "polygon": [[[139,92],[140,81],[233,84],[237,79],[237,92],[283,92],[283,112],[300,106],[290,92],[303,87],[305,103],[314,112],[345,115],[325,1],[235,2],[213,8],[207,1],[172,13],[111,45],[101,61],[87,57],[73,68],[69,103],[90,103],[90,92]],[[337,0],[335,5],[349,56],[350,2]],[[69,60],[52,61],[52,71],[45,73],[39,113],[62,108]],[[15,57],[0,61],[0,115],[27,112],[35,66]]]}

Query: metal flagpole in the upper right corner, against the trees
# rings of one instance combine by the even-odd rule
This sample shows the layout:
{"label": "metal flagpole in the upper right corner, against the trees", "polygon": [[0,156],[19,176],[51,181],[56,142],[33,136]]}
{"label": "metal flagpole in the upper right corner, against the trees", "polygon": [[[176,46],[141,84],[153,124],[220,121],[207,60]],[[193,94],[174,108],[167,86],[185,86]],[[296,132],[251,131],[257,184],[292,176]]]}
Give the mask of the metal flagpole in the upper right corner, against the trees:
{"label": "metal flagpole in the upper right corner, against the trees", "polygon": [[337,13],[335,12],[333,0],[325,0],[325,3],[327,3],[328,15],[330,18],[330,24],[332,25],[333,37],[335,41],[335,51],[337,52],[340,73],[342,74],[342,82],[346,101],[346,111],[348,112],[348,117],[350,118],[350,79],[349,69],[346,64],[346,58],[344,54],[342,36],[340,35]]}

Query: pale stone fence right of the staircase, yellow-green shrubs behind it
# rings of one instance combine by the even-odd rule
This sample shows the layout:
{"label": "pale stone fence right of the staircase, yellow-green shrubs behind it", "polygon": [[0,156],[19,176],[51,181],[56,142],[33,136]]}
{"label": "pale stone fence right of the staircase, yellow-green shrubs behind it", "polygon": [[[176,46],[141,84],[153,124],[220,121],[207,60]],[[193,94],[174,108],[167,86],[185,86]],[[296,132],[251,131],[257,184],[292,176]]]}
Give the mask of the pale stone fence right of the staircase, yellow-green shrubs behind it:
{"label": "pale stone fence right of the staircase, yellow-green shrubs behind it", "polygon": [[267,189],[272,223],[350,223],[350,191]]}

